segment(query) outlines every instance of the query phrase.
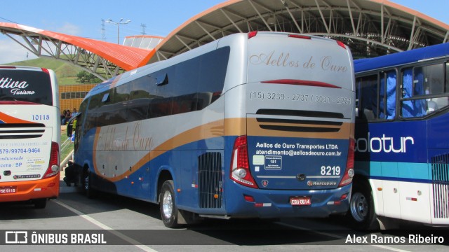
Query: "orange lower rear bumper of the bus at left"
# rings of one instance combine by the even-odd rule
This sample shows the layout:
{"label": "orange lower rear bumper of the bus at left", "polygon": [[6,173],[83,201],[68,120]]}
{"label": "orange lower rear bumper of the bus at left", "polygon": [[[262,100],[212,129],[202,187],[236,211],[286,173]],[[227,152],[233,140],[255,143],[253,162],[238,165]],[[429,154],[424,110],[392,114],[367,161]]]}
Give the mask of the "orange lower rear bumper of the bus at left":
{"label": "orange lower rear bumper of the bus at left", "polygon": [[0,193],[0,202],[20,202],[55,198],[59,195],[60,174],[48,179],[0,183],[1,188],[13,187],[15,193]]}

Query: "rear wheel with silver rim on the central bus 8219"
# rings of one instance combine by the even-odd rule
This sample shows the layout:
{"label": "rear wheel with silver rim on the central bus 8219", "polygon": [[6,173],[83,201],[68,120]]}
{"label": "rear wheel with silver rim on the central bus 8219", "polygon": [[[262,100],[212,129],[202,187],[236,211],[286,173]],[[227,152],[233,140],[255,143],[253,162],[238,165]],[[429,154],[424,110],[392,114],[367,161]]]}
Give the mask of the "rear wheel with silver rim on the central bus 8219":
{"label": "rear wheel with silver rim on the central bus 8219", "polygon": [[159,209],[163,225],[167,228],[177,227],[177,207],[175,204],[175,190],[173,181],[165,181],[159,194]]}

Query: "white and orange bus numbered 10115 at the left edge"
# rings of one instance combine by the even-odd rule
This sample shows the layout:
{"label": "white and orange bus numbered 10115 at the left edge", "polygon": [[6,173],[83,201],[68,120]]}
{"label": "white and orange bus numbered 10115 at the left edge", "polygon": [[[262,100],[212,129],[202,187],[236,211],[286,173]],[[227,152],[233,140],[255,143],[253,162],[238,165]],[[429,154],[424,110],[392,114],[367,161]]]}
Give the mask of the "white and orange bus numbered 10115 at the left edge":
{"label": "white and orange bus numbered 10115 at the left edge", "polygon": [[60,109],[50,69],[0,66],[0,202],[58,197]]}

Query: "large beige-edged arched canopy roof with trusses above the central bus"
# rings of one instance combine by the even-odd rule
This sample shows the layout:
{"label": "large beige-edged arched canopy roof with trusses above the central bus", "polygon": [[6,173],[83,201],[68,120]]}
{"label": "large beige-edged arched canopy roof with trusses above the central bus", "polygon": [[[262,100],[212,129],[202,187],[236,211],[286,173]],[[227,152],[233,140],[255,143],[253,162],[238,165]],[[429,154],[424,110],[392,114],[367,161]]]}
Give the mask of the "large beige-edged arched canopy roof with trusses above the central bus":
{"label": "large beige-edged arched canopy roof with trusses above the central bus", "polygon": [[343,41],[354,57],[448,42],[449,25],[386,0],[229,0],[194,16],[156,47],[149,63],[217,38],[287,31]]}

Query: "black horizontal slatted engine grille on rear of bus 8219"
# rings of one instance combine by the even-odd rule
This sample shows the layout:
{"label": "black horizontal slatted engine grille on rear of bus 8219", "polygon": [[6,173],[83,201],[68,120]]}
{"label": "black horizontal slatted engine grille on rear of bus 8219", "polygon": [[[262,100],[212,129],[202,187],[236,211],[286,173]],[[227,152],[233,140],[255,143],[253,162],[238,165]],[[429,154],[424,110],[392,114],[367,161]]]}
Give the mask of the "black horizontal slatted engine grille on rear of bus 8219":
{"label": "black horizontal slatted engine grille on rear of bus 8219", "polygon": [[327,133],[339,132],[342,122],[330,120],[309,120],[309,118],[330,118],[343,119],[342,113],[321,112],[321,111],[297,111],[281,109],[260,109],[257,115],[267,116],[296,116],[304,119],[283,119],[283,118],[261,118],[257,116],[256,120],[260,128],[264,130],[280,130],[286,132],[314,132]]}

